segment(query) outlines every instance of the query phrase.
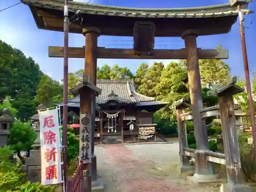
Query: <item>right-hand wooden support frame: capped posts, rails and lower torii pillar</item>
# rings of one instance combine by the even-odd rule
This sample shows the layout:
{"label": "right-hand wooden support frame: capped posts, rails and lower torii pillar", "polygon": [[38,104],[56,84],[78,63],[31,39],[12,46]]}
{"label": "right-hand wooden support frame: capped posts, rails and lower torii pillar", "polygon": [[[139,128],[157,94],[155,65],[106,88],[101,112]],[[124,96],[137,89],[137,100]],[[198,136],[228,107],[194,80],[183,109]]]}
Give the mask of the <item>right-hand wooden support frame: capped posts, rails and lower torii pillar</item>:
{"label": "right-hand wooden support frame: capped posts, rails and lower torii pillar", "polygon": [[[233,103],[233,95],[241,93],[244,90],[236,85],[237,78],[231,77],[225,82],[216,84],[208,94],[218,96],[218,105],[211,106],[204,109],[194,108],[193,113],[185,113],[185,109],[190,106],[185,99],[181,99],[175,102],[171,109],[176,109],[177,123],[178,123],[178,135],[179,135],[179,147],[180,147],[180,162],[181,171],[193,168],[190,166],[189,158],[195,159],[196,174],[193,179],[200,181],[208,181],[208,176],[215,175],[214,163],[226,165],[227,181],[228,185],[232,187],[246,187],[243,185],[243,173],[240,162],[237,128],[236,128],[236,105]],[[197,101],[191,103],[191,109],[195,106]],[[199,113],[198,113],[199,112]],[[208,136],[206,131],[206,125],[204,118],[220,116],[224,152],[215,153],[209,151]],[[195,138],[197,149],[188,148],[186,123],[185,120],[193,120],[195,124]],[[197,123],[196,123],[197,122]],[[197,124],[197,125],[196,125]],[[200,176],[200,177],[199,177]],[[212,177],[215,178],[215,177]],[[224,185],[223,185],[224,186]],[[249,187],[249,186],[248,186]],[[247,188],[248,188],[247,187]],[[231,191],[228,188],[222,191]],[[232,190],[234,191],[234,190]],[[249,191],[249,190],[246,190]]]}

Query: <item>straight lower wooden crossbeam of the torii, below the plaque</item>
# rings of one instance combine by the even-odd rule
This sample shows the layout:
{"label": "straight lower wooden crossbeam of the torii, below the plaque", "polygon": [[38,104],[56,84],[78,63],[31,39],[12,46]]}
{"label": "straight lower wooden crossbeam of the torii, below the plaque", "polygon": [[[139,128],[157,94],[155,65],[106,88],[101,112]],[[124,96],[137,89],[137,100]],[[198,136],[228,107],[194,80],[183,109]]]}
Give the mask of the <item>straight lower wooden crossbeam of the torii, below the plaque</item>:
{"label": "straight lower wooden crossbeam of the torii, below the plaque", "polygon": [[[69,47],[69,58],[84,58],[85,47]],[[49,57],[63,57],[63,47],[49,46]],[[227,59],[228,51],[225,49],[198,48],[199,59]],[[152,55],[136,55],[133,49],[107,49],[98,47],[99,59],[186,59],[185,49],[156,49]]]}

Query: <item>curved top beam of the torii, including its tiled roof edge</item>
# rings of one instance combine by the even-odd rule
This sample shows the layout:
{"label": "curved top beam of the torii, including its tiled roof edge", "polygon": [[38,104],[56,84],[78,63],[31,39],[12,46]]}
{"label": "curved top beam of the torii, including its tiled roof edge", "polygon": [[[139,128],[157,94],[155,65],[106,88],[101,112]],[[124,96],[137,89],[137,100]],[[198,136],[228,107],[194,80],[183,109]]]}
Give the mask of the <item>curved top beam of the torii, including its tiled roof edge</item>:
{"label": "curved top beam of the torii, including its tiled roof edge", "polygon": [[[63,31],[62,0],[21,0],[28,5],[39,29]],[[248,1],[249,2],[249,1]],[[187,29],[198,35],[228,33],[237,21],[238,11],[229,4],[193,8],[125,8],[69,2],[70,16],[80,10],[80,18],[70,25],[71,33],[82,33],[84,27],[97,27],[101,35],[133,36],[134,23],[153,22],[155,36],[181,36]],[[247,4],[244,14],[251,13]]]}

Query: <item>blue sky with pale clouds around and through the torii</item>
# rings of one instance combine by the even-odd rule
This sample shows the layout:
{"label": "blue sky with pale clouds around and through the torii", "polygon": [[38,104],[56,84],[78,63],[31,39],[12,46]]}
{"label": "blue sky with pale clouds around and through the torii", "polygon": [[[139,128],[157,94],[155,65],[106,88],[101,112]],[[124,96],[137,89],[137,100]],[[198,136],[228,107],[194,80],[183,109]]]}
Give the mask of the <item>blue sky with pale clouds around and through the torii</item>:
{"label": "blue sky with pale clouds around and through the torii", "polygon": [[[76,0],[87,2],[87,0]],[[0,10],[18,3],[19,0],[0,0]],[[123,6],[123,7],[144,7],[144,8],[177,8],[197,7],[228,3],[228,0],[92,0],[91,3]],[[250,4],[249,9],[256,10],[256,3]],[[248,53],[249,69],[256,72],[256,15],[247,15],[245,21],[246,44]],[[251,24],[252,22],[252,24]],[[63,76],[63,59],[48,58],[48,46],[63,46],[63,33],[47,30],[39,30],[36,27],[33,16],[28,6],[19,4],[8,10],[0,12],[0,39],[7,44],[22,50],[25,55],[32,56],[40,65],[45,74],[56,80]],[[98,46],[106,48],[127,48],[133,47],[132,37],[100,36]],[[70,34],[69,46],[82,47],[85,39],[81,34]],[[224,35],[212,35],[198,37],[198,47],[203,49],[214,49],[222,44],[224,49],[229,50],[229,59],[225,60],[231,68],[231,74],[244,77],[243,59],[241,52],[241,41],[239,35],[239,22],[233,25],[231,32]],[[184,41],[181,38],[162,37],[156,38],[155,49],[180,49],[184,48]],[[161,60],[136,60],[136,59],[98,59],[98,66],[105,63],[113,66],[128,67],[135,72],[140,63],[146,62],[152,65],[154,61]],[[166,65],[170,60],[162,60]],[[84,66],[84,59],[69,59],[69,72],[75,72]]]}

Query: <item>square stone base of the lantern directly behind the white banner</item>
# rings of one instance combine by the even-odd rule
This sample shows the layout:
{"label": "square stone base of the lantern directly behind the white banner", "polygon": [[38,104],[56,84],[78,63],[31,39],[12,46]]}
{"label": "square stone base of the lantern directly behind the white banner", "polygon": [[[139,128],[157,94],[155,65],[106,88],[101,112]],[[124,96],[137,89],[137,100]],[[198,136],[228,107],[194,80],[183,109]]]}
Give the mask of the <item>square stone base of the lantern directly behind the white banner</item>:
{"label": "square stone base of the lantern directly behind the white banner", "polygon": [[41,151],[31,150],[25,164],[28,167],[28,180],[32,183],[41,182]]}

